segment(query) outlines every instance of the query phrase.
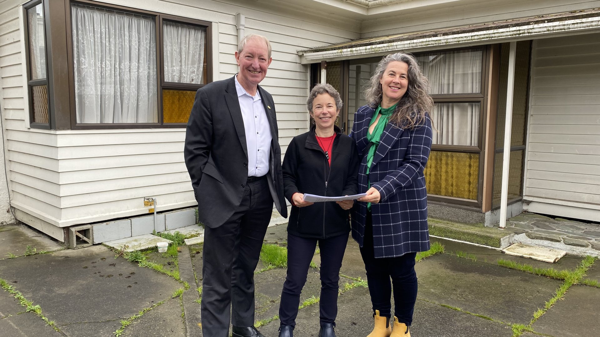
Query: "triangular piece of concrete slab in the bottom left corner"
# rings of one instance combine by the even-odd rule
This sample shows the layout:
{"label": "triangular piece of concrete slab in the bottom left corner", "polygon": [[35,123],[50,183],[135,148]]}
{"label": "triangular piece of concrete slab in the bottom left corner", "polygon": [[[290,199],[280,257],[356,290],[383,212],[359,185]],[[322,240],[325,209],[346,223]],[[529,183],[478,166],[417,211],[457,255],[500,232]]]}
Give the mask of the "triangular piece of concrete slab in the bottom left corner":
{"label": "triangular piece of concrete slab in the bottom left corner", "polygon": [[[35,304],[35,303],[34,303]],[[0,291],[0,335],[14,337],[58,337],[61,336],[7,291]]]}

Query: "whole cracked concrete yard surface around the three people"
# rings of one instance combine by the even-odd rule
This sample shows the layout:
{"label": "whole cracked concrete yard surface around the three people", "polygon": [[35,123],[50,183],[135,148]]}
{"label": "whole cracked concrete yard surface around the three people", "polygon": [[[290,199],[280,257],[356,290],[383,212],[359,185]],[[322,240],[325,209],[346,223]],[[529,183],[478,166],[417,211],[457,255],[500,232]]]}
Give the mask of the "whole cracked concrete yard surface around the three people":
{"label": "whole cracked concrete yard surface around the three people", "polygon": [[[285,225],[269,227],[266,242],[286,245]],[[4,237],[0,231],[0,239]],[[415,337],[511,337],[511,324],[528,324],[533,312],[543,308],[563,281],[532,275],[497,265],[499,258],[535,267],[572,270],[583,260],[568,256],[556,264],[509,257],[493,249],[434,239],[446,247],[446,254],[427,257],[416,264],[418,300],[411,328]],[[179,254],[179,272],[191,288],[182,298],[170,298],[183,285],[154,270],[137,266],[104,246],[63,250],[0,260],[0,279],[13,285],[43,315],[56,321],[56,332],[35,314],[25,312],[8,292],[0,292],[0,336],[4,337],[108,337],[121,327],[121,320],[164,300],[136,318],[121,336],[199,337],[200,304],[194,287],[202,281],[202,245],[190,246]],[[473,254],[476,261],[457,257]],[[314,257],[320,264],[319,255]],[[259,263],[257,270],[265,267]],[[587,272],[600,279],[600,260]],[[194,272],[196,272],[194,274]],[[353,240],[349,240],[341,268],[340,288],[352,278],[365,279],[364,264]],[[285,269],[271,269],[255,275],[256,321],[266,337],[277,336],[277,312]],[[337,336],[362,337],[372,329],[368,289],[359,284],[338,297]],[[195,293],[194,293],[195,292]],[[318,297],[318,269],[310,269],[302,300]],[[598,336],[600,288],[574,285],[552,308],[533,324],[536,334],[550,337]],[[185,317],[182,312],[185,308]],[[300,309],[297,336],[316,337],[319,332],[319,303]],[[524,332],[522,337],[534,337]]]}

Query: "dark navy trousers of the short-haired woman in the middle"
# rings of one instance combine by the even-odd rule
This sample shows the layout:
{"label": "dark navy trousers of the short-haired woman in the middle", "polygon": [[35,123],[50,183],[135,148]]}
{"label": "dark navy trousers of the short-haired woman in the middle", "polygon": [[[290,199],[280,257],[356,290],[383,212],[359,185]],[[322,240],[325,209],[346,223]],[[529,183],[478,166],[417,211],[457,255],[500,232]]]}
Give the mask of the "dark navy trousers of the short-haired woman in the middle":
{"label": "dark navy trousers of the short-haired woman in the middle", "polygon": [[341,260],[344,257],[344,251],[346,251],[348,234],[329,237],[328,239],[307,239],[288,233],[287,277],[286,282],[283,284],[279,305],[281,325],[296,326],[300,293],[302,293],[302,287],[306,283],[308,267],[313,259],[317,242],[319,242],[321,255],[320,324],[335,324]]}

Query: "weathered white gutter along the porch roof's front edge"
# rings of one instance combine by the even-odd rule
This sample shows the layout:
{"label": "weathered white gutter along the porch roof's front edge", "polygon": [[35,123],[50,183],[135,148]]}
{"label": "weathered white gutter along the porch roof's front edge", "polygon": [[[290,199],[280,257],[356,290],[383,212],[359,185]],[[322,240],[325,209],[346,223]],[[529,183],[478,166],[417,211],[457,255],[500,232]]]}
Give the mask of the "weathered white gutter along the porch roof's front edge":
{"label": "weathered white gutter along the porch roof's front edge", "polygon": [[[532,40],[535,38],[546,38],[560,35],[574,35],[591,32],[600,32],[600,14],[592,17],[582,17],[554,22],[533,23],[530,25],[513,26],[505,28],[482,29],[479,31],[464,32],[458,34],[448,34],[443,36],[430,36],[423,38],[414,38],[412,40],[389,41],[381,39],[379,43],[368,46],[344,47],[339,49],[317,51],[319,48],[311,50],[301,50],[298,55],[301,56],[303,64],[310,64],[319,61],[338,61],[343,59],[367,58],[370,56],[386,55],[391,52],[402,50],[404,52],[418,52],[422,50],[444,48],[457,48],[478,46],[488,43],[500,43],[516,40]],[[350,44],[349,41],[346,44]],[[322,47],[325,49],[326,47]]]}

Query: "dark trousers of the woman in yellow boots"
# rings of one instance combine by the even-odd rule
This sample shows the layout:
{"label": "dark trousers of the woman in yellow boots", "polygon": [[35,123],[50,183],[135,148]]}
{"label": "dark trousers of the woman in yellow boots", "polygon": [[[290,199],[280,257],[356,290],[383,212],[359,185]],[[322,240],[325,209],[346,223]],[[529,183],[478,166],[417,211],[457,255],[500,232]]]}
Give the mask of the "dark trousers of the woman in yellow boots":
{"label": "dark trousers of the woman in yellow boots", "polygon": [[361,255],[367,270],[367,282],[371,302],[373,302],[373,312],[379,310],[381,316],[391,317],[393,284],[394,315],[400,323],[410,326],[417,291],[416,252],[409,252],[399,257],[375,258],[373,251],[373,220],[371,213],[368,212]]}

